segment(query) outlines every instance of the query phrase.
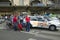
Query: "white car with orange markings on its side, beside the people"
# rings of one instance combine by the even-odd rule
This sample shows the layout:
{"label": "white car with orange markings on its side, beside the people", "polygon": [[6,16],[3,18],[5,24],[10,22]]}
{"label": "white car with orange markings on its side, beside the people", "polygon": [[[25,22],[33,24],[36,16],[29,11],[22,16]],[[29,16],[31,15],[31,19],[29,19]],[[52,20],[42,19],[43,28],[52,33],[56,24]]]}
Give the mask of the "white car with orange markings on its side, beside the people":
{"label": "white car with orange markings on its side, beside the people", "polygon": [[36,16],[30,16],[30,19],[31,27],[42,27],[48,28],[49,30],[56,30],[57,28],[60,28],[59,20],[50,20]]}

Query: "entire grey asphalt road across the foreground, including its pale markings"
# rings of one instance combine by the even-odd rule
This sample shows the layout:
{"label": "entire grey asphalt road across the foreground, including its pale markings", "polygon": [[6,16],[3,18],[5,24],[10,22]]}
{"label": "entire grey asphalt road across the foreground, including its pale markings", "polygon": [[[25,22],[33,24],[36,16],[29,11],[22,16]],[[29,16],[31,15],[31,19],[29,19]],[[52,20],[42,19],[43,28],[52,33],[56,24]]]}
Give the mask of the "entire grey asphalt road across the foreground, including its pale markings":
{"label": "entire grey asphalt road across the foreground, including its pale markings", "polygon": [[0,30],[0,40],[60,40],[60,30],[49,31],[47,29],[32,28],[30,32],[26,32],[4,29]]}

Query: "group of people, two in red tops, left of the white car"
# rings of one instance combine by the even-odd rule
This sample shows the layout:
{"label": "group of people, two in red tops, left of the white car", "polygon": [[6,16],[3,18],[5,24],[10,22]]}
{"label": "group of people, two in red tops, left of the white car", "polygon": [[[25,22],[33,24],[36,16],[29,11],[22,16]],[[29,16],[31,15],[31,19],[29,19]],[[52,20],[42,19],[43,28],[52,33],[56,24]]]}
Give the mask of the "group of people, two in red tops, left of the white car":
{"label": "group of people, two in red tops, left of the white car", "polygon": [[[11,21],[10,24],[12,24],[12,26],[10,26],[10,25],[9,26],[12,27],[15,31],[24,30],[23,28],[25,28],[27,32],[30,31],[30,18],[28,17],[28,15],[23,17],[21,15],[18,16],[17,13],[16,13],[13,16],[10,16],[10,18],[7,18],[7,19],[10,19],[10,21]],[[24,23],[24,19],[25,19],[26,23]]]}

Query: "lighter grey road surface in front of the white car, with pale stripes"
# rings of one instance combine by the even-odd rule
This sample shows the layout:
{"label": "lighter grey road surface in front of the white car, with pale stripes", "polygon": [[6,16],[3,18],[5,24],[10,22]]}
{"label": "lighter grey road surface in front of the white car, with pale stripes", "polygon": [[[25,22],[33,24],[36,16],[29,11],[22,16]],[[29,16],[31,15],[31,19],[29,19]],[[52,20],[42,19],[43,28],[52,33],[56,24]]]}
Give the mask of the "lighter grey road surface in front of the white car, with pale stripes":
{"label": "lighter grey road surface in front of the white car, with pale stripes", "polygon": [[48,30],[32,29],[30,32],[23,32],[23,33],[33,34],[36,37],[42,37],[50,40],[60,40],[60,30],[48,31]]}

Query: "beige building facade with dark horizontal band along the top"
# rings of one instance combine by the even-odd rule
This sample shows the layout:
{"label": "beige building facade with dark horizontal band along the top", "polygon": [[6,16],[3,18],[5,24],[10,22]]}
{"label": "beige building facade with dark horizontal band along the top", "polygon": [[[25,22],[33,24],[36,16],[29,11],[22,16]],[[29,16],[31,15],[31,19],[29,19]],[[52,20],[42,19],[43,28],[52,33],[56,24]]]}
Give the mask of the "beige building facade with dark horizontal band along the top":
{"label": "beige building facade with dark horizontal band along the top", "polygon": [[[60,7],[60,0],[0,0],[0,14],[9,14],[13,11],[27,11],[28,13],[46,13],[49,7]],[[50,11],[50,10],[49,10]],[[52,10],[54,11],[54,10]]]}

